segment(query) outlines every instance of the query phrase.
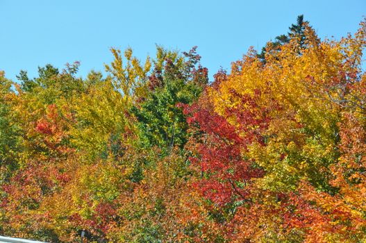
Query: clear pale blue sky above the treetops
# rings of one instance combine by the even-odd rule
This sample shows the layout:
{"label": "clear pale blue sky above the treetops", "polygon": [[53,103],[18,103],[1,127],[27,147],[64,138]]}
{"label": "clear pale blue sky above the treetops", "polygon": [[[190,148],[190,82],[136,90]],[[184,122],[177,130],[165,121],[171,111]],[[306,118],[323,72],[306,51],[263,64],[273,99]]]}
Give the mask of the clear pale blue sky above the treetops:
{"label": "clear pale blue sky above the treetops", "polygon": [[16,80],[38,66],[81,62],[80,75],[103,71],[110,47],[132,47],[144,59],[155,45],[188,51],[198,46],[210,76],[288,32],[304,15],[320,37],[354,33],[366,0],[0,0],[0,69]]}

